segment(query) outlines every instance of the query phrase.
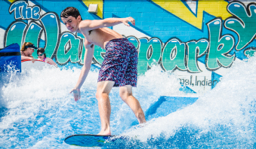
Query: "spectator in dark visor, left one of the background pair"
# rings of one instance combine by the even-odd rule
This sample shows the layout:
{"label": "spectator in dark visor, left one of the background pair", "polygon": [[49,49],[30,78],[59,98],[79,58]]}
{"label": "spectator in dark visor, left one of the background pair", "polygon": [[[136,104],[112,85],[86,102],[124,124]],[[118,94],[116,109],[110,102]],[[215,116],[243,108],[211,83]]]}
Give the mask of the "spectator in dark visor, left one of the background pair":
{"label": "spectator in dark visor, left one of the background pair", "polygon": [[35,59],[33,58],[32,53],[35,49],[37,49],[37,47],[35,47],[34,44],[25,42],[20,49],[21,60],[30,59],[34,63]]}

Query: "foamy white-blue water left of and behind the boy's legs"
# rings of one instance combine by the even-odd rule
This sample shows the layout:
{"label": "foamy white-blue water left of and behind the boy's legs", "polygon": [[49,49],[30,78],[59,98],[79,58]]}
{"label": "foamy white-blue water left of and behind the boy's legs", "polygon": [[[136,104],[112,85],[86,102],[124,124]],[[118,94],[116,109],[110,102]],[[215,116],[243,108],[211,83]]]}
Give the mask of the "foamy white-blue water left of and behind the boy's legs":
{"label": "foamy white-blue water left of and behind the boy's legs", "polygon": [[[0,147],[68,148],[72,146],[63,142],[66,136],[99,132],[100,117],[95,99],[97,69],[90,71],[79,102],[69,94],[80,71],[81,68],[45,68],[42,71],[31,69],[22,75],[2,75],[0,107],[7,110],[0,119],[0,142],[4,142]],[[183,94],[179,91],[177,78],[157,67],[140,76],[133,93],[143,111],[159,96]],[[112,132],[120,134],[137,120],[119,98],[118,88],[113,88],[109,96]]]}

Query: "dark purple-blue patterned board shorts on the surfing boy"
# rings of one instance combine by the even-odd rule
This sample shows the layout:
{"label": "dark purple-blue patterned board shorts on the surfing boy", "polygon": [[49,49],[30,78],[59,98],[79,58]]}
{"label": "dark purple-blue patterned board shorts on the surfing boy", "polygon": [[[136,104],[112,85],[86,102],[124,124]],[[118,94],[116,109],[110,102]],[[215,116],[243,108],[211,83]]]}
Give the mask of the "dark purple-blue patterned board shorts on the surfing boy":
{"label": "dark purple-blue patterned board shorts on the surfing boy", "polygon": [[114,87],[137,86],[137,50],[127,38],[106,43],[106,55],[97,81],[115,81]]}

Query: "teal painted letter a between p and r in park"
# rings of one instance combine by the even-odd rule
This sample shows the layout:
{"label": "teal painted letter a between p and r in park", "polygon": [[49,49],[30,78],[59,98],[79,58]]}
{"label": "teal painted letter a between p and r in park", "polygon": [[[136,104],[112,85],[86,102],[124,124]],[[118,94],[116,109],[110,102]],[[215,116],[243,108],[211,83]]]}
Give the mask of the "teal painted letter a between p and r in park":
{"label": "teal painted letter a between p and r in park", "polygon": [[165,70],[174,71],[176,68],[187,70],[186,62],[186,46],[185,43],[180,43],[177,38],[173,38],[165,43],[162,51],[162,66]]}

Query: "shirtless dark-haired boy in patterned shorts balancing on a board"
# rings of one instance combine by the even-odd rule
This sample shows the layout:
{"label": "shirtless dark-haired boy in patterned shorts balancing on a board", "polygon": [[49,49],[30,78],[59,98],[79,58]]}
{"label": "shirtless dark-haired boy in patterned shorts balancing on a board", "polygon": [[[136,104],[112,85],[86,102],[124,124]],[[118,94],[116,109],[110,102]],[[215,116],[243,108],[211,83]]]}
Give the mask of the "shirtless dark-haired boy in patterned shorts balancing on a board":
{"label": "shirtless dark-haired boy in patterned shorts balancing on a board", "polygon": [[70,92],[73,93],[75,101],[80,99],[80,88],[90,71],[94,44],[106,50],[99,71],[96,93],[101,121],[101,130],[98,135],[111,135],[109,93],[112,87],[119,87],[119,96],[134,112],[139,123],[146,123],[140,103],[132,95],[132,87],[137,86],[137,50],[128,39],[107,28],[119,23],[129,26],[130,22],[135,25],[135,20],[132,17],[82,20],[79,11],[72,7],[64,9],[60,17],[70,32],[79,32],[85,37],[85,64],[79,81]]}

